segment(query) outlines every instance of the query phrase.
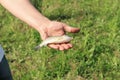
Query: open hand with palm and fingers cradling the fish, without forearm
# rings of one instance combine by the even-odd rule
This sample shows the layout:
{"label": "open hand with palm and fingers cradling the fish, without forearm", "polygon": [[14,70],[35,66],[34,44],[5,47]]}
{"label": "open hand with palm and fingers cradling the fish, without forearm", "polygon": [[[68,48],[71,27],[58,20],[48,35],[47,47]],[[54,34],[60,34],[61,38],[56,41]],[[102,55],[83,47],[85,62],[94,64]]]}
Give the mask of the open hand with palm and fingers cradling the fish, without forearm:
{"label": "open hand with palm and fingers cradling the fish, without forearm", "polygon": [[[75,33],[79,32],[79,30],[80,30],[79,28],[73,28],[61,22],[50,21],[48,24],[44,24],[41,27],[40,35],[41,38],[44,40],[49,36],[64,35],[66,31]],[[58,50],[67,50],[72,47],[72,44],[71,43],[49,44],[48,46]]]}

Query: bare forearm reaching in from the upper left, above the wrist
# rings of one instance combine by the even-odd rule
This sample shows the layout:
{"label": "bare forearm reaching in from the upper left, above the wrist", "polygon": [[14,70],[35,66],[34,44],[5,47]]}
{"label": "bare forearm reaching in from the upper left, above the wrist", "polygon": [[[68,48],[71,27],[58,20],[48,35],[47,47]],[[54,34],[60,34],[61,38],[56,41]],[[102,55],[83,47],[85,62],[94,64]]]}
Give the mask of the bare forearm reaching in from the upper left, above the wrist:
{"label": "bare forearm reaching in from the upper left, above the wrist", "polygon": [[44,23],[50,22],[34,8],[29,0],[0,0],[0,3],[13,15],[38,31]]}

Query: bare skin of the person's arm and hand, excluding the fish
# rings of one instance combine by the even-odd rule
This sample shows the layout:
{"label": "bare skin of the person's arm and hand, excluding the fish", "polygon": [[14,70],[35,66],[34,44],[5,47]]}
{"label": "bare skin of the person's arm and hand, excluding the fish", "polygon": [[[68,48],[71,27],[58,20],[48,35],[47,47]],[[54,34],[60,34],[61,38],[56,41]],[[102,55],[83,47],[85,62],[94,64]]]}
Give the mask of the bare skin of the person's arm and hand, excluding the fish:
{"label": "bare skin of the person's arm and hand, excluding the fish", "polygon": [[[30,0],[0,0],[0,4],[14,16],[37,30],[42,40],[50,36],[64,35],[66,31],[76,33],[80,30],[62,22],[49,20],[30,3]],[[71,43],[49,44],[48,46],[57,50],[67,50],[73,47]]]}

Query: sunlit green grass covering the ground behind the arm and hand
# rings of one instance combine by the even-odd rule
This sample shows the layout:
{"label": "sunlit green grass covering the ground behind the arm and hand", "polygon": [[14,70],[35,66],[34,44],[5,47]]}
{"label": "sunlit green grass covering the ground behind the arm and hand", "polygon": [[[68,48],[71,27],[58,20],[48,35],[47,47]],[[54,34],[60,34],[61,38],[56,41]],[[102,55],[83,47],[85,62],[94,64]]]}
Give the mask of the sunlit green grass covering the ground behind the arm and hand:
{"label": "sunlit green grass covering the ground behind the arm and hand", "polygon": [[0,44],[14,80],[119,80],[119,0],[32,0],[51,20],[79,27],[67,51],[44,47],[39,33],[0,6]]}

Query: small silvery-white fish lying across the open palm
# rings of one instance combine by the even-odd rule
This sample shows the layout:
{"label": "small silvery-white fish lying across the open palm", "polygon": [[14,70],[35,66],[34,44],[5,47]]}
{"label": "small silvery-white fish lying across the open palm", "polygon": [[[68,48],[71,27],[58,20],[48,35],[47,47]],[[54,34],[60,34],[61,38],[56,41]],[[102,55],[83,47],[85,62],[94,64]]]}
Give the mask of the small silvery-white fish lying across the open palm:
{"label": "small silvery-white fish lying across the open palm", "polygon": [[53,37],[48,37],[45,39],[41,44],[35,47],[35,50],[38,50],[39,48],[43,46],[47,46],[48,44],[51,43],[65,43],[65,42],[70,42],[73,38],[69,37],[67,35],[63,36],[53,36]]}

